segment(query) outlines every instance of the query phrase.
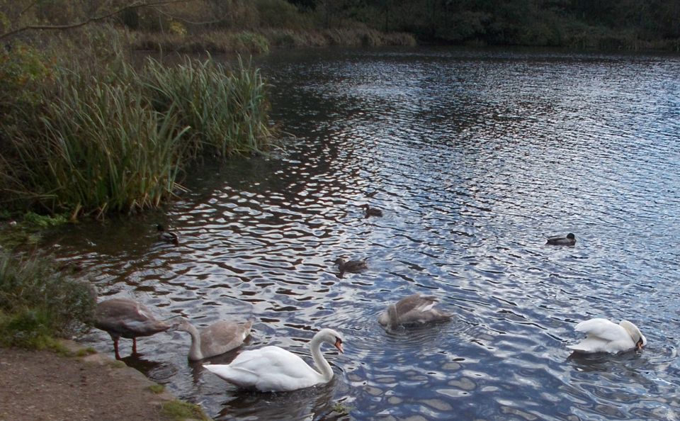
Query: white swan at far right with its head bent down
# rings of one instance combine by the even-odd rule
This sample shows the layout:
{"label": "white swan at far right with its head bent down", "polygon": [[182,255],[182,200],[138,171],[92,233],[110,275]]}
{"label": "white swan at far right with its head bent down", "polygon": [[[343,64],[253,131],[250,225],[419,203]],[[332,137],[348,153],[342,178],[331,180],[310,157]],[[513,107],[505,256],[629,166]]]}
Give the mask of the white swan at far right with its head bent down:
{"label": "white swan at far right with its head bent down", "polygon": [[567,346],[574,352],[616,354],[629,349],[642,349],[647,344],[647,338],[642,335],[640,329],[628,320],[621,320],[617,325],[606,319],[590,319],[580,322],[574,329],[586,334],[586,339]]}

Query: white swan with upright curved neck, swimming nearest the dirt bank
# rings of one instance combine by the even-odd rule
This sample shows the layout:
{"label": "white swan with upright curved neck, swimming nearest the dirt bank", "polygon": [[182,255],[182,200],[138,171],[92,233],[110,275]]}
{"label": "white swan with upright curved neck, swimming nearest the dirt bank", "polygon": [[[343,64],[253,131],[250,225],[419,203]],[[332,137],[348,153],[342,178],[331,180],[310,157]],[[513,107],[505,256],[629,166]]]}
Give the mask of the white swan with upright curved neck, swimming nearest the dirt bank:
{"label": "white swan with upright curved neck, swimming nearest the dirt bank", "polygon": [[204,367],[240,388],[254,388],[261,392],[295,391],[331,381],[333,370],[321,354],[321,344],[333,344],[343,352],[342,339],[342,335],[332,329],[319,330],[312,338],[312,359],[320,373],[293,352],[271,346],[244,351],[230,364],[208,364]]}

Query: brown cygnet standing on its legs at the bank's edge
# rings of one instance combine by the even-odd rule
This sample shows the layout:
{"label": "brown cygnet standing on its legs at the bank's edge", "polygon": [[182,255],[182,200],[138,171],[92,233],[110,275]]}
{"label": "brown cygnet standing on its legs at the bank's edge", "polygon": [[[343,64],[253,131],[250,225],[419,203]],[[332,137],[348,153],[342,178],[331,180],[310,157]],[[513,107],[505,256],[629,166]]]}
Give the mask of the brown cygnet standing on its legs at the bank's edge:
{"label": "brown cygnet standing on its legs at the bank's edge", "polygon": [[115,359],[120,359],[118,339],[121,337],[132,339],[132,354],[134,355],[137,354],[137,337],[174,330],[176,324],[158,320],[151,310],[135,300],[111,298],[96,305],[94,327],[111,335]]}

